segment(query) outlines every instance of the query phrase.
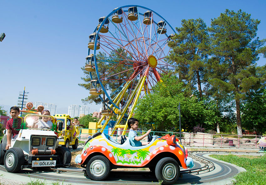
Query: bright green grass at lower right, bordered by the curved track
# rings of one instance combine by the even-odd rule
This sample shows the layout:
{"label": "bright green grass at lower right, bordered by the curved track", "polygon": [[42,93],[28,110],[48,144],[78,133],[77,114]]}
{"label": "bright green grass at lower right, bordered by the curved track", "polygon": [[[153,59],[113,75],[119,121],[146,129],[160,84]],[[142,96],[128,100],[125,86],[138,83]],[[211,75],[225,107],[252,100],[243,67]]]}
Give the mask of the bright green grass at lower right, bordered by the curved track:
{"label": "bright green grass at lower right, bordered by the curved track", "polygon": [[211,155],[211,157],[245,168],[235,176],[233,185],[266,185],[266,153],[263,156]]}

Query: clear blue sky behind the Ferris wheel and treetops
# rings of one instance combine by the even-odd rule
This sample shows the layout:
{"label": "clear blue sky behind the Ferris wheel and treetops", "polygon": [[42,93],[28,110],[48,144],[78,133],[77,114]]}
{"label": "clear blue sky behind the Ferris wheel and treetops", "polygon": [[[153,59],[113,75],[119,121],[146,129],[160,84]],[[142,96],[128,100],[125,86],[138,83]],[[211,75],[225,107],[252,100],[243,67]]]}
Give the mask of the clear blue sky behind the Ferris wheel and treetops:
{"label": "clear blue sky behind the Ferris wheel and treetops", "polygon": [[[182,19],[202,18],[207,26],[225,9],[250,13],[261,20],[257,36],[266,38],[265,0],[224,1],[8,1],[2,0],[0,33],[0,105],[16,105],[24,86],[30,101],[55,103],[59,108],[82,105],[89,91],[80,69],[88,54],[88,37],[114,8],[136,4],[154,10],[172,27]],[[260,57],[258,65],[266,64]],[[91,104],[91,112],[101,105]],[[62,109],[66,110],[67,109]]]}

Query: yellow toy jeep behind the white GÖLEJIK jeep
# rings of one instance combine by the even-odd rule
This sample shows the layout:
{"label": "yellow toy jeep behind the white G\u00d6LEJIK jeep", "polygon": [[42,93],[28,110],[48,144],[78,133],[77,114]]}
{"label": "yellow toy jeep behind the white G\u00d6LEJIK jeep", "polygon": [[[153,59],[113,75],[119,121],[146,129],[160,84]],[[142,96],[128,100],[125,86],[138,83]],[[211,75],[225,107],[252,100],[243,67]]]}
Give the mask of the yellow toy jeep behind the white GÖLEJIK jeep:
{"label": "yellow toy jeep behind the white G\u00d6LEJIK jeep", "polygon": [[73,149],[78,148],[80,127],[71,125],[70,116],[67,114],[55,114],[54,118],[63,122],[63,129],[59,132],[59,138],[64,141],[59,142],[59,145],[69,148],[72,145]]}

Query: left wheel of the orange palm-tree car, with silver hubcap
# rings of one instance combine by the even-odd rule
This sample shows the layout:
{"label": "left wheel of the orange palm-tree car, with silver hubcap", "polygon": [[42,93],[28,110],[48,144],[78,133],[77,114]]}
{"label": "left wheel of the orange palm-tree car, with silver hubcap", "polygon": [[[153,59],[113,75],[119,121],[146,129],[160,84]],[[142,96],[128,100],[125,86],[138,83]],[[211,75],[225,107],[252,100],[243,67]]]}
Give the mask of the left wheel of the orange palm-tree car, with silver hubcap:
{"label": "left wheel of the orange palm-tree car, with silver hubcap", "polygon": [[110,168],[110,162],[106,157],[96,155],[87,163],[86,173],[91,180],[102,181],[108,177]]}

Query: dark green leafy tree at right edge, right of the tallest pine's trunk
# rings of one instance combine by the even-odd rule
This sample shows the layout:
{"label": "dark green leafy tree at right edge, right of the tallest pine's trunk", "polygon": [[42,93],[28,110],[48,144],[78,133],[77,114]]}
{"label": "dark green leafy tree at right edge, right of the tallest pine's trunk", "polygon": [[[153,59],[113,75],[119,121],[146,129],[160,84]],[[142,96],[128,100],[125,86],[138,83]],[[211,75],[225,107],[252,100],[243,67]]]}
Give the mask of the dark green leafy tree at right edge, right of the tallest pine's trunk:
{"label": "dark green leafy tree at right edge, right of the tallest pine's trunk", "polygon": [[266,132],[266,90],[260,89],[247,93],[241,115],[243,127],[255,130],[259,136]]}

